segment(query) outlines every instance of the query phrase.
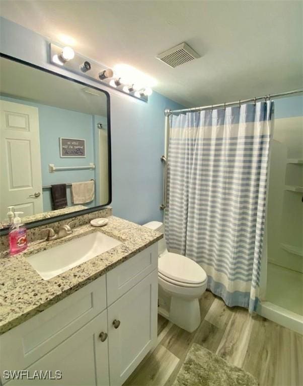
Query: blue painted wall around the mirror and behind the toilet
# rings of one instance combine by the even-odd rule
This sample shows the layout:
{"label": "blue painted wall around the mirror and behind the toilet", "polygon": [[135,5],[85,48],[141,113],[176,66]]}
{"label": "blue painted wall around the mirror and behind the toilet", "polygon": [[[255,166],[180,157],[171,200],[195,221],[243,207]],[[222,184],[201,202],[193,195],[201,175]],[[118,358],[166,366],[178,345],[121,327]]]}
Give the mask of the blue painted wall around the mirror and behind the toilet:
{"label": "blue painted wall around the mirror and behind the toilet", "polygon": [[148,103],[48,63],[46,39],[0,18],[1,52],[107,89],[111,97],[112,206],[114,215],[139,224],[162,220],[164,109],[182,106],[154,92]]}

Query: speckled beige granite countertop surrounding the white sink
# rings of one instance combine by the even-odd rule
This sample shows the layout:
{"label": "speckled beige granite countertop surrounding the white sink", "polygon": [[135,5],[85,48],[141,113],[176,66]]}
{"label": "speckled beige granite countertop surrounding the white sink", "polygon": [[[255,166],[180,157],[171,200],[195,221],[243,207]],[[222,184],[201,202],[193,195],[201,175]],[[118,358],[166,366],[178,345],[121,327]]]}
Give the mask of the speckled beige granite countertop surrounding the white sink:
{"label": "speckled beige granite countertop surrounding the white sink", "polygon": [[[114,216],[108,217],[108,220],[104,227],[95,228],[87,224],[75,228],[71,235],[62,239],[34,241],[26,251],[15,256],[10,256],[8,251],[0,253],[0,335],[64,299],[163,237],[159,232]],[[26,260],[32,253],[91,232],[102,232],[120,240],[122,244],[49,280],[42,279]]]}

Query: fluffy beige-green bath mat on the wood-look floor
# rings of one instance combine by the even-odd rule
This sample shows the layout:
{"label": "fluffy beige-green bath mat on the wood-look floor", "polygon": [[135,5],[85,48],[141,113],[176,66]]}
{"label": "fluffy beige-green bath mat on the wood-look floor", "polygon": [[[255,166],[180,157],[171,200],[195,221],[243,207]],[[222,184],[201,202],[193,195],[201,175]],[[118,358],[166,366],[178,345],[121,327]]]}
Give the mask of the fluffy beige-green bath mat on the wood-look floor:
{"label": "fluffy beige-green bath mat on the wood-look floor", "polygon": [[258,386],[250,373],[194,343],[173,386]]}

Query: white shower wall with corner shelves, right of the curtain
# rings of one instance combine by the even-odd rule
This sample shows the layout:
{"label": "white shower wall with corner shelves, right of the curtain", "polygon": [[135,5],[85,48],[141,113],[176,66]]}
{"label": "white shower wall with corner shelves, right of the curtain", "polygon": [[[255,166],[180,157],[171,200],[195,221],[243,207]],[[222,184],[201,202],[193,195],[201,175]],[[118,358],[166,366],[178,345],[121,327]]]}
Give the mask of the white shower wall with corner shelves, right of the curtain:
{"label": "white shower wall with corner shelves, right of the curtain", "polygon": [[297,272],[303,272],[302,128],[302,117],[275,120],[267,211],[268,262]]}

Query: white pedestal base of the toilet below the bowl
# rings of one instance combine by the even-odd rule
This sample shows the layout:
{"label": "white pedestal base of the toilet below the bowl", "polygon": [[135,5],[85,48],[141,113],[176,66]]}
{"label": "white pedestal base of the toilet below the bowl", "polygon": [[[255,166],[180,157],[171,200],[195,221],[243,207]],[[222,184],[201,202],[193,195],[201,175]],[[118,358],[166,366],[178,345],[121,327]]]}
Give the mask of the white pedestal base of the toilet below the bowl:
{"label": "white pedestal base of the toilet below the bowl", "polygon": [[172,296],[168,302],[167,294],[160,288],[159,290],[158,314],[188,332],[195,331],[201,323],[199,300],[185,300]]}

